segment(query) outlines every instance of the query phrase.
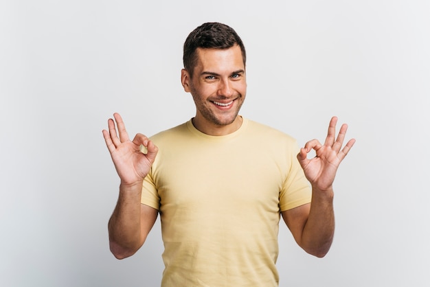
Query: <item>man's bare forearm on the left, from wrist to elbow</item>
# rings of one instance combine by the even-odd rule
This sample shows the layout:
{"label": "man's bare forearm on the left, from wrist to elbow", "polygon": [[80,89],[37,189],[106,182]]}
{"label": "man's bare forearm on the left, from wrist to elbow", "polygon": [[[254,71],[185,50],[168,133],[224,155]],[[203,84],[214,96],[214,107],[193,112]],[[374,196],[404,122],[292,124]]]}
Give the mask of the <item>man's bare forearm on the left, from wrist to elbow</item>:
{"label": "man's bare forearm on the left, from wrist to elbow", "polygon": [[117,205],[109,220],[109,244],[113,255],[124,258],[133,255],[143,244],[140,231],[140,198],[142,182],[120,185]]}

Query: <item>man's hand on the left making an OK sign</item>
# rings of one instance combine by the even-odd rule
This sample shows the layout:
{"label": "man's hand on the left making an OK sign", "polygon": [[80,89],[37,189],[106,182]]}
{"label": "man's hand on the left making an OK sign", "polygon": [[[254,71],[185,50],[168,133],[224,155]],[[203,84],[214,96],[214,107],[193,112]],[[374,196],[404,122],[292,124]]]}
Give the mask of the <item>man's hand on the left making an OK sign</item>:
{"label": "man's hand on the left making an OK sign", "polygon": [[[133,141],[128,137],[126,127],[122,121],[122,117],[118,113],[114,113],[113,119],[108,120],[108,130],[103,130],[104,141],[111,153],[113,164],[121,179],[121,185],[134,185],[142,183],[146,174],[150,171],[152,163],[158,152],[157,146],[148,139],[145,135],[138,133]],[[117,134],[117,129],[119,137]],[[148,152],[141,152],[140,146],[146,147]]]}

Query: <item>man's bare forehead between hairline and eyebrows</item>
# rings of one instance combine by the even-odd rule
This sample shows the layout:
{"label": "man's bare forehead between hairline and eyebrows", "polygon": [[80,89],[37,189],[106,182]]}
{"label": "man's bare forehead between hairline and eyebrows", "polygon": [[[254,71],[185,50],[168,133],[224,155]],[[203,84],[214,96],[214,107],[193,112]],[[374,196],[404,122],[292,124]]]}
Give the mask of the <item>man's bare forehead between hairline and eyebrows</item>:
{"label": "man's bare forehead between hairline and eyebrows", "polygon": [[242,51],[238,45],[234,45],[228,49],[204,49],[197,48],[197,65],[194,71],[212,71],[220,73],[225,71],[244,70]]}

